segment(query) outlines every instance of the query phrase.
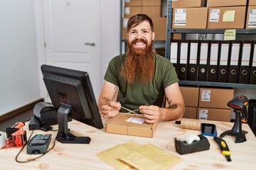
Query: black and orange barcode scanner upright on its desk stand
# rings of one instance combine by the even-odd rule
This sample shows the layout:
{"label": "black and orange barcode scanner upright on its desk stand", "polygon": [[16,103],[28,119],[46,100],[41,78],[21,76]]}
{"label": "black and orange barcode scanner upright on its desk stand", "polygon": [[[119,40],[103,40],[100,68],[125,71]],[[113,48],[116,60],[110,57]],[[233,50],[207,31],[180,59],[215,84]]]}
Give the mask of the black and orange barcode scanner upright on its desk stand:
{"label": "black and orange barcode scanner upright on its desk stand", "polygon": [[235,112],[235,123],[231,130],[227,130],[220,134],[220,137],[225,135],[235,135],[235,143],[245,142],[245,134],[247,132],[242,130],[242,122],[246,123],[248,119],[247,113],[248,98],[245,96],[237,96],[228,102],[228,106],[233,108]]}

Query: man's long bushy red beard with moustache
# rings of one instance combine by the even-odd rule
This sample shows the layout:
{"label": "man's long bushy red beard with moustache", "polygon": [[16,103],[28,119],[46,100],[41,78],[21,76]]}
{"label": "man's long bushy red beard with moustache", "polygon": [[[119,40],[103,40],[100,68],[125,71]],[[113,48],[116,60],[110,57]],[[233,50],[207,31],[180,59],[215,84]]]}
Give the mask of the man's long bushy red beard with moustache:
{"label": "man's long bushy red beard with moustache", "polygon": [[[144,49],[133,47],[134,42],[144,42]],[[146,83],[154,77],[153,43],[150,45],[144,39],[136,39],[127,44],[127,57],[121,70],[121,75],[127,79],[128,84],[133,81]]]}

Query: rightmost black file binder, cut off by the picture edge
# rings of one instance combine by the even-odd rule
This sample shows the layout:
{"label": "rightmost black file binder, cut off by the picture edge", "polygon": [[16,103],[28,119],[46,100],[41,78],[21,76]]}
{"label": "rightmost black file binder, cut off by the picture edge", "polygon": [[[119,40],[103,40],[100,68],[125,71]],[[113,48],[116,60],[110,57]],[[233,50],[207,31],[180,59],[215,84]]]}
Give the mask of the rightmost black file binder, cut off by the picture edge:
{"label": "rightmost black file binder, cut off by the picture edge", "polygon": [[256,84],[256,41],[252,44],[252,57],[251,57],[251,65],[250,65],[250,84]]}

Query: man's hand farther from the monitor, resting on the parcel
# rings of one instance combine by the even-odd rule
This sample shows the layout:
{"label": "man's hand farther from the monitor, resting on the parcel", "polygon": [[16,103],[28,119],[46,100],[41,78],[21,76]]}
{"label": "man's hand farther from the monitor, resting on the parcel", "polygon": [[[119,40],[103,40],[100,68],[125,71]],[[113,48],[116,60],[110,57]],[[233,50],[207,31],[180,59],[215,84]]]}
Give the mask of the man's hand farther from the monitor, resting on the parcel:
{"label": "man's hand farther from the monitor, resting on the parcel", "polygon": [[161,119],[159,106],[139,106],[139,112],[144,116],[146,123],[156,123]]}

